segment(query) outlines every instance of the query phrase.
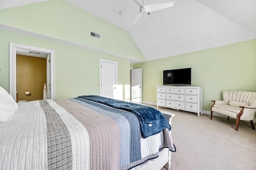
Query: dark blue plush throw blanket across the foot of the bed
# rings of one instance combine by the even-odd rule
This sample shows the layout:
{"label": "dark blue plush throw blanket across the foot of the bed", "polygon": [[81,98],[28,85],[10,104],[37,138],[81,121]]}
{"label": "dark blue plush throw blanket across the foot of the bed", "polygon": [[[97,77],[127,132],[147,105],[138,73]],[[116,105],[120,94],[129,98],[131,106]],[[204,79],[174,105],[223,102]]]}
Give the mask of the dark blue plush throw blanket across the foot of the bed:
{"label": "dark blue plush throw blanket across the foot of the bed", "polygon": [[164,115],[162,115],[160,111],[154,109],[153,107],[95,95],[79,97],[82,99],[94,101],[97,103],[107,105],[109,107],[133,113],[138,117],[140,121],[140,129],[143,138],[147,138],[148,136],[158,134],[164,128],[168,128],[169,130],[171,130],[171,126],[168,124]]}

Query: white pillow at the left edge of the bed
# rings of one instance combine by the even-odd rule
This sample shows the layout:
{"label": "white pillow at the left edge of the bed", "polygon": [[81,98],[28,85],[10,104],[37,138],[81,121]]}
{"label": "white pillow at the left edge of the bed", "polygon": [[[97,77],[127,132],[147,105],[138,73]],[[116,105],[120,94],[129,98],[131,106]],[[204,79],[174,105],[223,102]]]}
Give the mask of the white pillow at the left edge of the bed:
{"label": "white pillow at the left edge of the bed", "polygon": [[0,87],[0,123],[11,121],[18,110],[18,104],[12,96]]}

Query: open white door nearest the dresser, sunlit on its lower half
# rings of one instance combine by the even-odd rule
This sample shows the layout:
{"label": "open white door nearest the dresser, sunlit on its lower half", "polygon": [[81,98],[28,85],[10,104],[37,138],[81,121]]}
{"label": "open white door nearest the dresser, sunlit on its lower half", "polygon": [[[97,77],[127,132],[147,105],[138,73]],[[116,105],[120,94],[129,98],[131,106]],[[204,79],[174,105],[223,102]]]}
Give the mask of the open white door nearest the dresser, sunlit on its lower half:
{"label": "open white door nearest the dresser, sunlit on its lower half", "polygon": [[131,99],[142,103],[142,68],[131,70]]}

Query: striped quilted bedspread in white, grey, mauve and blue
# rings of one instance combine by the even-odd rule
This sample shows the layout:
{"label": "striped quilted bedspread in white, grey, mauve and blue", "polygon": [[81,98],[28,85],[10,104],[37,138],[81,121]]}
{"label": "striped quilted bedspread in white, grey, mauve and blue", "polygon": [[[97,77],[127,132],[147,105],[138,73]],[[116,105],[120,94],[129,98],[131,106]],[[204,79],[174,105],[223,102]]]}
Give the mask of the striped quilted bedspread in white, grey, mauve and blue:
{"label": "striped quilted bedspread in white, grey, mauve and blue", "polygon": [[0,169],[127,170],[176,151],[167,128],[142,138],[136,115],[82,100],[19,103],[0,123]]}

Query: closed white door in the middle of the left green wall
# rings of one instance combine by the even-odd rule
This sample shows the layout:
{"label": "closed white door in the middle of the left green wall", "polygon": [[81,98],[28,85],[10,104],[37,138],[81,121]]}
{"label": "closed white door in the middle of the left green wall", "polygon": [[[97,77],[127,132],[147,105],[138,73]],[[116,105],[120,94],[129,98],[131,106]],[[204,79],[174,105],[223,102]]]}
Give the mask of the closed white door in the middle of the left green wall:
{"label": "closed white door in the middle of the left green wall", "polygon": [[100,59],[100,96],[113,99],[116,85],[117,63]]}

